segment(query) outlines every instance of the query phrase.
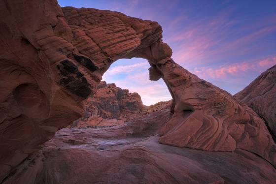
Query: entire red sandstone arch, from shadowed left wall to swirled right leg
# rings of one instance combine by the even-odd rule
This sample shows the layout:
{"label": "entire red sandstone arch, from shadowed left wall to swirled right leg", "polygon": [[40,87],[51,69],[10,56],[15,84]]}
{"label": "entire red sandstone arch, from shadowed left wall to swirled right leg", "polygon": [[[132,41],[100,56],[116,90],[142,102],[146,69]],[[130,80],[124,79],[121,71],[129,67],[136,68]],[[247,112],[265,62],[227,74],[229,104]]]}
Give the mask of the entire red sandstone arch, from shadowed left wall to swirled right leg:
{"label": "entire red sandstone arch, from shadowed left wall to swirled right leg", "polygon": [[97,92],[112,62],[133,57],[147,59],[150,79],[162,78],[173,97],[174,114],[159,131],[160,143],[243,149],[276,165],[264,121],[175,63],[156,22],[60,8],[56,0],[2,0],[0,48],[0,176],[84,114],[84,100]]}

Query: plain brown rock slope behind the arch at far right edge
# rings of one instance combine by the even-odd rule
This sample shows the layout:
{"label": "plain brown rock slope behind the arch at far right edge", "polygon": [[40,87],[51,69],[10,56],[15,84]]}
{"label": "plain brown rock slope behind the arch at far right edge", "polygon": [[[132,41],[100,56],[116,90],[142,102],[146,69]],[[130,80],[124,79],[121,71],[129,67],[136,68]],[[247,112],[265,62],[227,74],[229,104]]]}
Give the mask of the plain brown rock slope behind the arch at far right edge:
{"label": "plain brown rock slope behind the arch at far right edge", "polygon": [[265,120],[276,140],[276,65],[235,96]]}

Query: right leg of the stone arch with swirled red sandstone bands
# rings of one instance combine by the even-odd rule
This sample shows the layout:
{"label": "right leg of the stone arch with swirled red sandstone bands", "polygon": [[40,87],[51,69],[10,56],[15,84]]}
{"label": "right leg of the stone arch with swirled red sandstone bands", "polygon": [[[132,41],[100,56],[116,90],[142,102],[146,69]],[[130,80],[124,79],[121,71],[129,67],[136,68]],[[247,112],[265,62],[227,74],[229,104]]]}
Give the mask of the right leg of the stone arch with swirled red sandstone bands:
{"label": "right leg of the stone arch with swirled red sandstone bands", "polygon": [[264,121],[230,93],[179,66],[169,58],[170,51],[161,41],[138,51],[156,70],[153,76],[162,74],[175,104],[172,119],[160,129],[159,142],[207,151],[240,148],[275,165],[275,142]]}

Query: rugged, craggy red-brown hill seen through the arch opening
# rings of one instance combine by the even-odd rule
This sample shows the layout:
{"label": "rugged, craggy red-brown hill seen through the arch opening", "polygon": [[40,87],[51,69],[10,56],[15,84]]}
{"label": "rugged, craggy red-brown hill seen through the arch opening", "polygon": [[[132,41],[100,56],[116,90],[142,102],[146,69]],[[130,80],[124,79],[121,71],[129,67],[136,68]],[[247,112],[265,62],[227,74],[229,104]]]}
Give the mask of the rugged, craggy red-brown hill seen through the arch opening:
{"label": "rugged, craggy red-brown hill seen through the arch opening", "polygon": [[130,93],[105,81],[97,89],[85,103],[84,116],[70,127],[118,125],[145,114],[146,106],[137,92]]}

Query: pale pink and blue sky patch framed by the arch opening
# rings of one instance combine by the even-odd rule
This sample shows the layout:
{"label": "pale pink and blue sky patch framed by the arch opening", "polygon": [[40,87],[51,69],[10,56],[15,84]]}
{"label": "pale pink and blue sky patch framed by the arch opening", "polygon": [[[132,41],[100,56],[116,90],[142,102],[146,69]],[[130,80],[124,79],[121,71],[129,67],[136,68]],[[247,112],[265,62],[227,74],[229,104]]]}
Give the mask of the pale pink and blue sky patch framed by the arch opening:
{"label": "pale pink and blue sky patch framed by the arch opening", "polygon": [[[111,64],[103,75],[106,83],[115,83],[117,87],[137,92],[144,105],[153,105],[160,101],[172,99],[170,92],[161,77],[154,73],[147,60],[142,58],[120,59]],[[160,74],[159,74],[160,75]]]}

